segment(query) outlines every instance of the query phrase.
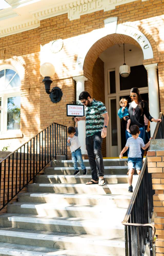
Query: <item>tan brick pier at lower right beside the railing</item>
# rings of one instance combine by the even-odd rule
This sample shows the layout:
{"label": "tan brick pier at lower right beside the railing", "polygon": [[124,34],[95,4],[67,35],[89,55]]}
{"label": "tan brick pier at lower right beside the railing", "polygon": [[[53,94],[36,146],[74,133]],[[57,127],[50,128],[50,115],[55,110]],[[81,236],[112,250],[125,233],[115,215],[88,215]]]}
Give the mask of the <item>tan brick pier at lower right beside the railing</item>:
{"label": "tan brick pier at lower right beside the railing", "polygon": [[152,173],[152,185],[155,189],[153,206],[155,213],[156,256],[164,254],[164,150],[148,151],[148,172]]}

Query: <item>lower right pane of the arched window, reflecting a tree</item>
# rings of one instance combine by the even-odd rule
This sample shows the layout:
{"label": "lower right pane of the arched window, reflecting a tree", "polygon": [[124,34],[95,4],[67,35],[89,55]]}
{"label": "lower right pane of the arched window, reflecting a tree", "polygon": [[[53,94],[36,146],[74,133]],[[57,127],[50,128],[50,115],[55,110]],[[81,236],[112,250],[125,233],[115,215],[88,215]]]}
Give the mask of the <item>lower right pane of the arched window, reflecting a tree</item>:
{"label": "lower right pane of the arched window, reflecting a tree", "polygon": [[7,99],[7,130],[20,129],[21,97]]}

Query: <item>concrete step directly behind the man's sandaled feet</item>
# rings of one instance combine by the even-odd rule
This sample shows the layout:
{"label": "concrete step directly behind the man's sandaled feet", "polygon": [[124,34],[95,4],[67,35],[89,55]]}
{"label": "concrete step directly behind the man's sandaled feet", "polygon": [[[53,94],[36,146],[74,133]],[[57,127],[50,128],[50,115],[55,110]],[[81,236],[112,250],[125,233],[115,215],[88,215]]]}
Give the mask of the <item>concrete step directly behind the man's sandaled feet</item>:
{"label": "concrete step directly behind the man's sandaled feet", "polygon": [[[37,175],[36,183],[86,183],[91,180],[91,175]],[[128,183],[128,175],[104,175],[105,183],[117,184]],[[133,175],[133,180],[137,182],[138,175]]]}

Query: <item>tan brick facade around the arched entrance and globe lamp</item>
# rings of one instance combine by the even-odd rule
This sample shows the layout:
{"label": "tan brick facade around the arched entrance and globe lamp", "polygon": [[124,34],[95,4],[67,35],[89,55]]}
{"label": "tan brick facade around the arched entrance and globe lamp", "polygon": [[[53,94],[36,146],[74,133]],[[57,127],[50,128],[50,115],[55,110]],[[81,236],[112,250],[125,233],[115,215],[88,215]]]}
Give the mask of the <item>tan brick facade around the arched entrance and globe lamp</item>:
{"label": "tan brick facade around the arched entrance and globe lamp", "polygon": [[[135,1],[116,6],[114,10],[96,11],[82,15],[80,19],[69,20],[67,14],[41,20],[40,27],[22,33],[0,38],[0,63],[13,65],[21,76],[21,131],[23,138],[0,140],[0,149],[11,144],[11,150],[26,142],[37,132],[52,122],[73,125],[66,117],[66,103],[75,100],[76,83],[73,76],[85,75],[85,90],[97,100],[104,100],[103,63],[99,55],[117,43],[131,43],[140,47],[131,37],[123,34],[111,34],[99,39],[86,54],[83,70],[77,71],[78,52],[83,47],[83,40],[88,44],[88,35],[95,29],[104,27],[104,19],[118,17],[118,24],[125,24],[139,29],[149,40],[154,58],[143,60],[143,64],[158,63],[159,95],[161,111],[164,111],[164,47],[163,47],[163,0]],[[53,86],[62,89],[63,97],[59,103],[52,103],[46,94],[40,64],[48,62],[43,58],[46,44],[56,38],[63,39],[63,48],[58,53],[50,54],[54,61],[55,74]],[[51,85],[52,86],[52,85]],[[103,90],[99,93],[99,86]],[[105,156],[105,140],[103,144]]]}

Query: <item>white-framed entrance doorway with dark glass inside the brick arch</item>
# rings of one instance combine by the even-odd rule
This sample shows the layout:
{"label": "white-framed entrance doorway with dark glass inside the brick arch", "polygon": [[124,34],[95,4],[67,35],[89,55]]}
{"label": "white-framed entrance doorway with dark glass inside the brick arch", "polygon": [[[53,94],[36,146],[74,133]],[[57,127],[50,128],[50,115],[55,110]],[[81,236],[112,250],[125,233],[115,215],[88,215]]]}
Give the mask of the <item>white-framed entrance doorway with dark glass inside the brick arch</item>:
{"label": "white-framed entrance doorway with dark glass inside the brick arch", "polygon": [[[127,65],[131,68],[130,75],[126,78],[119,74],[123,59],[123,44],[111,46],[99,56],[104,62],[105,106],[109,113],[107,157],[119,157],[126,144],[126,123],[117,115],[120,99],[126,98],[130,102],[130,89],[138,87],[143,99],[148,101],[147,71],[143,66],[142,50],[135,45],[125,44],[125,57]],[[124,155],[126,156],[126,153]]]}

